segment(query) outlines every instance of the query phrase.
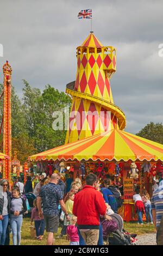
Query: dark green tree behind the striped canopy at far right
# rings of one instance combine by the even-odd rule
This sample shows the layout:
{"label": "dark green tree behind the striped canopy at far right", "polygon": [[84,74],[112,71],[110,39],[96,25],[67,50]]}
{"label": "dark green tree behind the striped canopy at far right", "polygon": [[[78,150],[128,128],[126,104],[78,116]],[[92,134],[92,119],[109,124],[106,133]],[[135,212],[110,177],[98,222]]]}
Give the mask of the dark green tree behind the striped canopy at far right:
{"label": "dark green tree behind the striped canopy at far right", "polygon": [[162,123],[154,124],[151,122],[143,127],[140,132],[136,133],[136,135],[163,144],[163,125]]}

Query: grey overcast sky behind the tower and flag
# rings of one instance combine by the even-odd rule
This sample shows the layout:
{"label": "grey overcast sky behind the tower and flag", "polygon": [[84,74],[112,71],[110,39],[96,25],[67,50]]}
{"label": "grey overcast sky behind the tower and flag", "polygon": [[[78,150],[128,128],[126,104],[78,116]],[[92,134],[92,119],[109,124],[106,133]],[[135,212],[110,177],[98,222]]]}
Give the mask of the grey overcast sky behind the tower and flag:
{"label": "grey overcast sky behind the tower and flag", "polygon": [[91,30],[79,20],[92,9],[92,30],[103,45],[117,49],[117,71],[111,78],[114,102],[126,113],[126,131],[163,121],[163,1],[157,0],[0,0],[0,82],[2,66],[12,66],[12,85],[22,95],[22,79],[65,91],[76,79],[76,47]]}

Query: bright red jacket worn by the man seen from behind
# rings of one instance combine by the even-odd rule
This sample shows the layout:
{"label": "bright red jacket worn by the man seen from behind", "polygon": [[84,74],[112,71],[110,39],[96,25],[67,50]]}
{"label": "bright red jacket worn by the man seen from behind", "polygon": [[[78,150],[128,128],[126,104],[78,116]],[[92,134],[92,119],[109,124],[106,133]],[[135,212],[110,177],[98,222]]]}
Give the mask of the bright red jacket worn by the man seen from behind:
{"label": "bright red jacket worn by the man seen from behind", "polygon": [[[99,226],[99,215],[106,214],[106,205],[102,194],[95,187],[86,185],[74,198],[73,214],[78,225]],[[82,228],[82,227],[79,227]]]}

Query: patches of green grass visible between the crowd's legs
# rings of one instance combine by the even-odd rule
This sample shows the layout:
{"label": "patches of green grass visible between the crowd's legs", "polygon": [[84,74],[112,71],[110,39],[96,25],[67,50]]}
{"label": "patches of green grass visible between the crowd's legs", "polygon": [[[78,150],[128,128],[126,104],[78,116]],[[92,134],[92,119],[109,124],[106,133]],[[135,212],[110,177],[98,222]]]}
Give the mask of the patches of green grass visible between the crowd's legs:
{"label": "patches of green grass visible between the crowd's legs", "polygon": [[[35,238],[30,236],[30,219],[23,218],[23,225],[22,225],[22,233],[21,233],[21,245],[46,245],[47,241],[47,233],[45,231],[45,236],[43,237],[42,241],[38,241]],[[138,225],[136,222],[133,223],[124,223],[124,229],[131,233],[136,233],[137,235],[141,234],[150,234],[155,232],[154,225],[151,224],[144,224]],[[68,245],[69,242],[66,240],[66,236],[63,239],[57,238],[60,234],[61,228],[58,229],[58,234],[55,234],[55,245]],[[12,244],[12,235],[10,235],[10,244]]]}

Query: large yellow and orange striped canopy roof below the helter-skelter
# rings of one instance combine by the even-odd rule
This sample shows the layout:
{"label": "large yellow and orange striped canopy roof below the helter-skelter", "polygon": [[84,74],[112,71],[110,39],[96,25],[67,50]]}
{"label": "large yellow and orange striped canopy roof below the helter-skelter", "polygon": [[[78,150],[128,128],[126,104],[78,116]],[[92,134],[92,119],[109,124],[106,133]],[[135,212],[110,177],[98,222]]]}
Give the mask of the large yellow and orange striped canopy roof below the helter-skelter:
{"label": "large yellow and orange striped canopy roof below the helter-skelter", "polygon": [[163,161],[163,145],[121,130],[111,130],[29,156],[39,160]]}

